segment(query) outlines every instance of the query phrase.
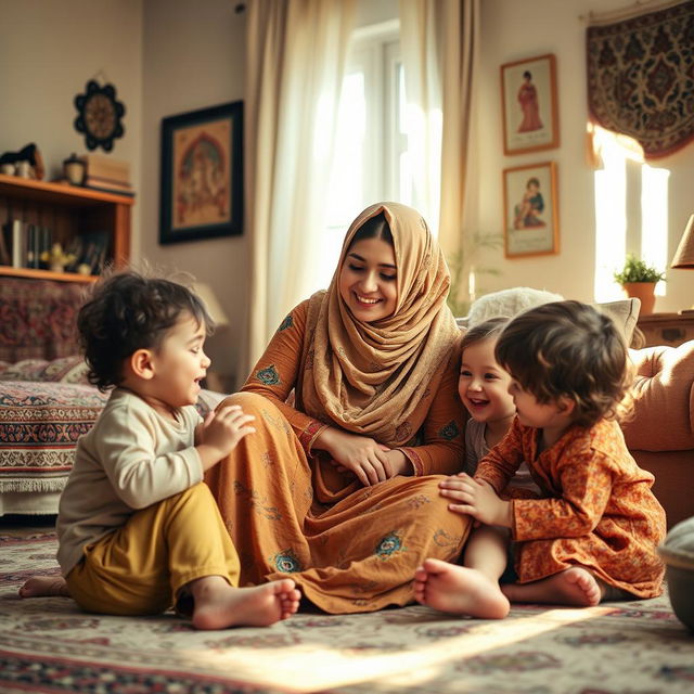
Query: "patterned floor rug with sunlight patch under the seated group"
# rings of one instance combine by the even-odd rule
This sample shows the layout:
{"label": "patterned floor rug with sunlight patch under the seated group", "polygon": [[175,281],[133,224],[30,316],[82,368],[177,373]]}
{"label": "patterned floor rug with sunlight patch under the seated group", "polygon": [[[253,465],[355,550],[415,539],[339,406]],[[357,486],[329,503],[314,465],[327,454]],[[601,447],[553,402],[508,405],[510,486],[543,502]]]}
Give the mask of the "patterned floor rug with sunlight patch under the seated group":
{"label": "patterned floor rug with sunlight patch under the seated group", "polygon": [[653,694],[694,691],[694,635],[667,596],[587,609],[526,605],[502,621],[411,606],[300,614],[194,631],[172,615],[101,617],[20,600],[55,574],[55,537],[0,536],[0,692]]}

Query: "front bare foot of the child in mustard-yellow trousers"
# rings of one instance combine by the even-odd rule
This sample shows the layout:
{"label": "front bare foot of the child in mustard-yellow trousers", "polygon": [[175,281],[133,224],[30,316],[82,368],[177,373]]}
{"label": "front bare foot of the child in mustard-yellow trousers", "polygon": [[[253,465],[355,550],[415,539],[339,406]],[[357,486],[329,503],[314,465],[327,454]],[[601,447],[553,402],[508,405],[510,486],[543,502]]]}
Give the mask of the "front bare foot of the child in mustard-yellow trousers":
{"label": "front bare foot of the child in mustard-yellow trousers", "polygon": [[250,588],[233,588],[221,576],[206,576],[190,586],[196,629],[269,627],[291,617],[301,594],[290,578]]}

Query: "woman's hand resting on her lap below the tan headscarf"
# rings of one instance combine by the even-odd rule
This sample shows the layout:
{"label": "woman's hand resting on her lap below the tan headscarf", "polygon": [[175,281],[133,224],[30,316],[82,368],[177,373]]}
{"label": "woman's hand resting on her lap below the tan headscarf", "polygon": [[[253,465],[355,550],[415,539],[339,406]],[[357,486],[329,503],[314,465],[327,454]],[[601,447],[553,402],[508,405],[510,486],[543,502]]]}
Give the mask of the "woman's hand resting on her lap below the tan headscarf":
{"label": "woman's hand resting on her lap below the tan headscarf", "polygon": [[402,464],[398,464],[398,457],[393,453],[400,453],[404,458],[400,451],[391,451],[368,436],[350,434],[332,426],[319,434],[313,448],[327,451],[338,471],[354,473],[364,487],[390,479],[401,472],[398,468]]}

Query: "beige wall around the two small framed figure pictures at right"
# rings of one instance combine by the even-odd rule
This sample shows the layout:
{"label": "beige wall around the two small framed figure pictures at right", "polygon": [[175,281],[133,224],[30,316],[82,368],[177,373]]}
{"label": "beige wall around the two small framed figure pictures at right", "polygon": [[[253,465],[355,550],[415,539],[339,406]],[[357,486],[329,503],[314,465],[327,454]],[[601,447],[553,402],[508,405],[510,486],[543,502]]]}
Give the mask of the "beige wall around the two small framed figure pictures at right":
{"label": "beige wall around the two small framed figure pictures at right", "polygon": [[[499,277],[484,280],[488,290],[525,285],[548,288],[564,296],[592,300],[594,211],[593,171],[586,165],[586,23],[590,10],[622,8],[624,0],[484,0],[479,118],[479,213],[473,224],[480,231],[503,228],[502,170],[553,160],[558,170],[561,253],[507,260],[502,252],[487,254],[483,265],[496,267]],[[557,60],[561,146],[556,150],[504,156],[501,129],[499,67],[503,63],[554,53]],[[671,258],[684,224],[694,211],[694,145],[660,159],[655,166],[670,170],[669,247]],[[676,311],[694,301],[694,272],[668,270],[667,296],[658,297],[656,311]]]}

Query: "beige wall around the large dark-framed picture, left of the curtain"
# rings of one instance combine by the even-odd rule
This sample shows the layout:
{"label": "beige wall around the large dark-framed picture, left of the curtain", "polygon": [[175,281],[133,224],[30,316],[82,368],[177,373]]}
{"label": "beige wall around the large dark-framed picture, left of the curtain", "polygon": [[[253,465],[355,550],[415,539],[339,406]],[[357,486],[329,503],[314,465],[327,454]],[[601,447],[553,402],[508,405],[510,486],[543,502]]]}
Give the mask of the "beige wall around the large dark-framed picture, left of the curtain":
{"label": "beige wall around the large dark-framed picture, left of the curtain", "polygon": [[142,256],[192,272],[213,287],[231,321],[207,343],[213,369],[222,374],[237,371],[248,304],[247,239],[158,244],[159,138],[166,116],[243,99],[246,15],[234,12],[236,4],[146,0],[143,5]]}

